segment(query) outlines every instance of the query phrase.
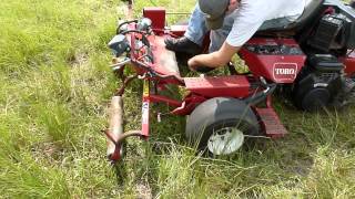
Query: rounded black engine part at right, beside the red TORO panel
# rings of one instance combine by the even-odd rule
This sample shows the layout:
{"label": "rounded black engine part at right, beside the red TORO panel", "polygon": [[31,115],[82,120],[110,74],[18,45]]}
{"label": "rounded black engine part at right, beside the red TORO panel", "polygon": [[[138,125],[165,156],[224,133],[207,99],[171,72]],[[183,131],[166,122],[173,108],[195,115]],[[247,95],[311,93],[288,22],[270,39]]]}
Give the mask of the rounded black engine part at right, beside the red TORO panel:
{"label": "rounded black engine part at right, beside the red TORO panel", "polygon": [[324,106],[343,106],[352,97],[355,83],[345,77],[344,65],[331,54],[314,54],[306,60],[293,87],[297,107],[315,111]]}

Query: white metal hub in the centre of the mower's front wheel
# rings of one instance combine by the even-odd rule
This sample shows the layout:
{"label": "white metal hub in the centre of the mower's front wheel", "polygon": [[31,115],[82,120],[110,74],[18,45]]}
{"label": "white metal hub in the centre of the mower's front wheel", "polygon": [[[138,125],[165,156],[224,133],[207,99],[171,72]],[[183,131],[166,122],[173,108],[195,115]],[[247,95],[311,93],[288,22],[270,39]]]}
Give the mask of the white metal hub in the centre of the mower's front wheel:
{"label": "white metal hub in the centre of the mower's front wheel", "polygon": [[212,134],[207,148],[214,155],[230,155],[240,149],[243,143],[243,132],[235,127],[224,127]]}

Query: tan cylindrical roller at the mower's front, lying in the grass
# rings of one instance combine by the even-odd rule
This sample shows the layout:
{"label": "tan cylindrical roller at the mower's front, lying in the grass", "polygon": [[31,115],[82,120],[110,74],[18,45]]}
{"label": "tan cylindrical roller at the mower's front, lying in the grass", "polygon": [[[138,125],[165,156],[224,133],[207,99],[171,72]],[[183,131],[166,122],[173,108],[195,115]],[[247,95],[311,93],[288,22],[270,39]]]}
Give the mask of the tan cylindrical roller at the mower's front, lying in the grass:
{"label": "tan cylindrical roller at the mower's front, lying in the grass", "polygon": [[122,147],[118,143],[120,135],[123,134],[123,98],[113,96],[110,107],[110,127],[108,130],[108,158],[119,160],[122,156]]}

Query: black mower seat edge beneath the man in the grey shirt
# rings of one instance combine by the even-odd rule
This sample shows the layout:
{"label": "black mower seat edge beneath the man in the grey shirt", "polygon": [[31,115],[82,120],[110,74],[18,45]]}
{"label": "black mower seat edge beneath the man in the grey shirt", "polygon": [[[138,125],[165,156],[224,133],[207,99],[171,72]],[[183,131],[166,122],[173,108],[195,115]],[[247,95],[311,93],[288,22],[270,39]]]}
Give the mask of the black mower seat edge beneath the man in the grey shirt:
{"label": "black mower seat edge beneath the man in the grey shirt", "polygon": [[320,12],[324,0],[306,0],[305,9],[302,15],[286,27],[276,27],[258,31],[257,34],[270,34],[278,32],[296,32],[302,30],[308,22],[312,22],[314,17]]}

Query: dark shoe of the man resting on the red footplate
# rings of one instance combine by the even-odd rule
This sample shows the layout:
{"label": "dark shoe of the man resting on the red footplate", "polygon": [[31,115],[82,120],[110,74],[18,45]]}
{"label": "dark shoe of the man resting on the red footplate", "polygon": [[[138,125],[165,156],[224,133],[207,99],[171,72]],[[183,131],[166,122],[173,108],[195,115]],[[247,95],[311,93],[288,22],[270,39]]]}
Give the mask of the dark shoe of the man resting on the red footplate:
{"label": "dark shoe of the man resting on the red footplate", "polygon": [[174,38],[168,38],[165,39],[165,48],[168,50],[174,51],[176,53],[186,53],[186,54],[192,54],[196,55],[201,52],[200,45],[196,43],[192,42],[185,36],[174,39]]}

